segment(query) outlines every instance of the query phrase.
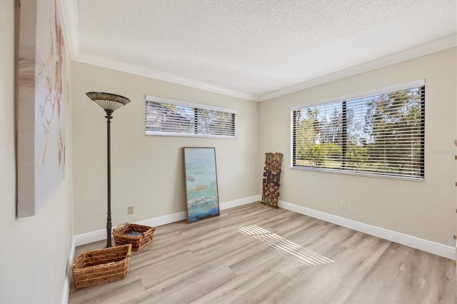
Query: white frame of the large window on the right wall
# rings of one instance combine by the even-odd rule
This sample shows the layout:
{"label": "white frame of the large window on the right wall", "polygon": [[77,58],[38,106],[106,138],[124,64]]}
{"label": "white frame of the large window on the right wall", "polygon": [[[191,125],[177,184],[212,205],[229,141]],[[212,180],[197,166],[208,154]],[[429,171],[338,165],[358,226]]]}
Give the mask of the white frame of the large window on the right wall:
{"label": "white frame of the large window on the right wall", "polygon": [[[296,145],[294,144],[294,111],[298,110],[303,110],[306,108],[312,108],[315,106],[322,106],[328,103],[343,103],[343,101],[351,101],[353,99],[357,98],[365,98],[368,96],[373,96],[377,94],[383,94],[383,93],[389,93],[393,91],[401,91],[405,90],[408,88],[414,88],[414,87],[421,87],[421,86],[426,86],[426,81],[425,79],[421,79],[418,81],[411,81],[408,83],[401,83],[395,86],[387,86],[383,88],[376,88],[371,91],[364,91],[360,93],[354,93],[351,95],[347,96],[341,96],[337,98],[330,98],[326,99],[323,101],[318,101],[315,103],[305,103],[301,104],[299,106],[292,106],[291,107],[291,133],[290,133],[290,139],[291,139],[291,169],[293,170],[301,170],[301,171],[318,171],[318,172],[325,172],[325,173],[338,173],[338,174],[347,174],[347,175],[354,175],[354,176],[370,176],[370,177],[376,177],[376,178],[393,178],[393,179],[400,179],[400,180],[407,180],[407,181],[425,181],[426,180],[426,113],[425,113],[425,88],[424,88],[424,96],[423,96],[423,101],[422,101],[422,106],[421,106],[421,115],[422,115],[422,127],[421,127],[421,133],[422,135],[422,141],[423,141],[423,149],[421,153],[421,162],[422,162],[422,169],[423,169],[423,176],[418,176],[418,177],[411,177],[411,176],[401,176],[401,175],[394,175],[394,174],[389,174],[389,173],[382,173],[382,172],[371,172],[371,171],[351,171],[349,169],[345,168],[317,168],[317,167],[312,167],[312,166],[297,166],[294,164],[294,156],[296,152]],[[347,133],[346,133],[347,136]]]}

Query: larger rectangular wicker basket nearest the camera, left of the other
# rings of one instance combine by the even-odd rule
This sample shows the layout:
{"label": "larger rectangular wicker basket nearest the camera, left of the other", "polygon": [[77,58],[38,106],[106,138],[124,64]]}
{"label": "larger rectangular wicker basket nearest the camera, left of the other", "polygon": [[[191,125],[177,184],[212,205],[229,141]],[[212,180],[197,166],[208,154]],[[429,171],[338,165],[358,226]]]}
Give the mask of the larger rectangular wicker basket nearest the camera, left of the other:
{"label": "larger rectangular wicker basket nearest the camera, left of the other", "polygon": [[130,267],[131,245],[84,251],[73,263],[76,289],[122,280]]}

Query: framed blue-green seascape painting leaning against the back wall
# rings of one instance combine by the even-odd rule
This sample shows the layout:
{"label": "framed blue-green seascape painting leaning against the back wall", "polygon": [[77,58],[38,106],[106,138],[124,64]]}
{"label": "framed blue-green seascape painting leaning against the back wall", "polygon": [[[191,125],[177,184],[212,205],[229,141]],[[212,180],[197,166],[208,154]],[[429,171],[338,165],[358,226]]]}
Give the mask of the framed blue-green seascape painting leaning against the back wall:
{"label": "framed blue-green seascape painting leaning against the back wall", "polygon": [[219,216],[215,148],[183,148],[187,223]]}

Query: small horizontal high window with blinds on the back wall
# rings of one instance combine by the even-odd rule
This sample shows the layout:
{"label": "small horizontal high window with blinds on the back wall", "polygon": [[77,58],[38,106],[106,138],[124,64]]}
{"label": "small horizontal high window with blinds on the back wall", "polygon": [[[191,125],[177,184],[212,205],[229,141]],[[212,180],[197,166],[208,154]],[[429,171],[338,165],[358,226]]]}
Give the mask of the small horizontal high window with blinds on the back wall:
{"label": "small horizontal high window with blinds on the back wall", "polygon": [[236,138],[236,110],[146,96],[146,135]]}

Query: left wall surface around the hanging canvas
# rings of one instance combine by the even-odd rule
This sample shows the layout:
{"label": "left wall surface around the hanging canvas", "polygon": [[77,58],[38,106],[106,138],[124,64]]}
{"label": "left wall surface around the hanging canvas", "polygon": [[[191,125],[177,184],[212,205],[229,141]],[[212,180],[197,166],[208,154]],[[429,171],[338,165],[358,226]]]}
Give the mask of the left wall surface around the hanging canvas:
{"label": "left wall surface around the hanging canvas", "polygon": [[0,66],[0,303],[59,303],[73,240],[71,100],[65,179],[36,216],[16,218],[14,0],[0,1]]}

